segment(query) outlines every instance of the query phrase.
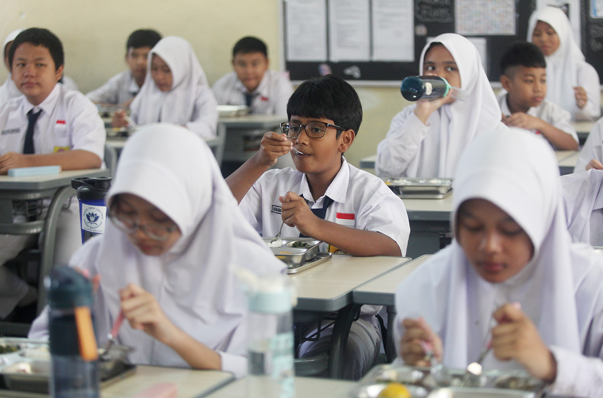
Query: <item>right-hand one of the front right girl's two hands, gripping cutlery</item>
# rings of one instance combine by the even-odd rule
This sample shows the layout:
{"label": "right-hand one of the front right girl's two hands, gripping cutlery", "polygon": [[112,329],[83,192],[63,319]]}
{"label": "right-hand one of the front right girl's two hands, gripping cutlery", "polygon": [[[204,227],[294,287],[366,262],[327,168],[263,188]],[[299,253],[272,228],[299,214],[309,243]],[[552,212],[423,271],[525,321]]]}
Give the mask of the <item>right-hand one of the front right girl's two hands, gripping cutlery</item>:
{"label": "right-hand one of the front right girl's two hands, gripping cutlery", "polygon": [[552,382],[557,362],[538,334],[531,319],[517,303],[506,303],[494,311],[498,325],[492,329],[492,350],[500,361],[515,359],[535,378]]}

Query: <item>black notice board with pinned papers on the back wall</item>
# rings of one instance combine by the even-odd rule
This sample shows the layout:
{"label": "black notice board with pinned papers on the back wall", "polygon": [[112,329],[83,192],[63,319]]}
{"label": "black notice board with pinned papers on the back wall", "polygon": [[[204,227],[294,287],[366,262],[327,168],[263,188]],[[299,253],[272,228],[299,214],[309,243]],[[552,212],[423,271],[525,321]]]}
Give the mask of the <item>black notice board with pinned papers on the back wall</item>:
{"label": "black notice board with pinned papers on the back wall", "polygon": [[[332,0],[326,0],[328,2]],[[369,0],[372,2],[373,0]],[[287,30],[286,7],[288,1],[282,0],[283,29],[283,60],[285,70],[289,71],[293,81],[303,81],[315,76],[320,76],[320,64],[327,64],[334,75],[341,76],[348,81],[364,82],[366,84],[399,84],[406,76],[417,75],[418,60],[421,50],[428,37],[455,31],[455,0],[413,0],[414,2],[414,61],[412,62],[331,62],[323,61],[291,61],[286,58]],[[514,42],[526,39],[528,20],[536,8],[536,0],[515,0],[516,34],[501,36],[476,36],[486,40],[487,73],[490,81],[498,81],[500,76],[500,57],[513,45]],[[328,8],[328,7],[327,7]],[[587,61],[599,71],[603,71],[603,19],[591,19],[589,13],[589,0],[581,0],[582,21],[582,51]],[[327,10],[328,12],[328,10]],[[327,26],[327,29],[330,27]],[[418,34],[417,34],[418,33]],[[467,36],[471,38],[472,36]],[[349,67],[358,67],[359,77],[344,73]],[[603,81],[603,79],[602,79]]]}

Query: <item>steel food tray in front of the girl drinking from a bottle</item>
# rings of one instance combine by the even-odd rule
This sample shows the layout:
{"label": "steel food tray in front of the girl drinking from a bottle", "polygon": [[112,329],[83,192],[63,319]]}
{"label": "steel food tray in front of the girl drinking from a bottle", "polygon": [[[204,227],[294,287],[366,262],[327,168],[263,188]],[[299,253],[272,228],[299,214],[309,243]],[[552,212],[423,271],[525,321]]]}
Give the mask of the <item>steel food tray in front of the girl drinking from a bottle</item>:
{"label": "steel food tray in front of the girl drinking from a bottle", "polygon": [[452,190],[452,178],[384,178],[385,185],[400,197],[442,199]]}

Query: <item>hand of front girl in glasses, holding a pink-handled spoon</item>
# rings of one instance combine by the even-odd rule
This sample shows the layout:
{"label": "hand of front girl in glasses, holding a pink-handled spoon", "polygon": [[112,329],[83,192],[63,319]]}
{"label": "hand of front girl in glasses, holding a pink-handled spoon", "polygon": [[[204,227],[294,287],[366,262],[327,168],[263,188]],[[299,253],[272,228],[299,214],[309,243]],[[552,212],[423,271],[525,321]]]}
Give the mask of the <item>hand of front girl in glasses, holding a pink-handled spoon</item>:
{"label": "hand of front girl in glasses, holding a pink-handled spoon", "polygon": [[133,329],[139,329],[168,346],[178,329],[168,319],[153,294],[135,284],[119,291],[121,310]]}

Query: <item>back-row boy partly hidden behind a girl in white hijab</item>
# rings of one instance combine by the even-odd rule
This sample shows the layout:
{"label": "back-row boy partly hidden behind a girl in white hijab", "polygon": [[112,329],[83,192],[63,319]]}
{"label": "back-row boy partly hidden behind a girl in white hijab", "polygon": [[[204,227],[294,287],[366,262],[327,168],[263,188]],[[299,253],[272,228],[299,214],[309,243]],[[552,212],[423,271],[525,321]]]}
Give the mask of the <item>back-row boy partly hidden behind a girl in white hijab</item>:
{"label": "back-row boy partly hidden behind a girl in white hijab", "polygon": [[125,62],[130,69],[113,76],[86,96],[96,104],[127,108],[145,82],[147,55],[159,40],[161,35],[152,29],[132,32],[125,45]]}

